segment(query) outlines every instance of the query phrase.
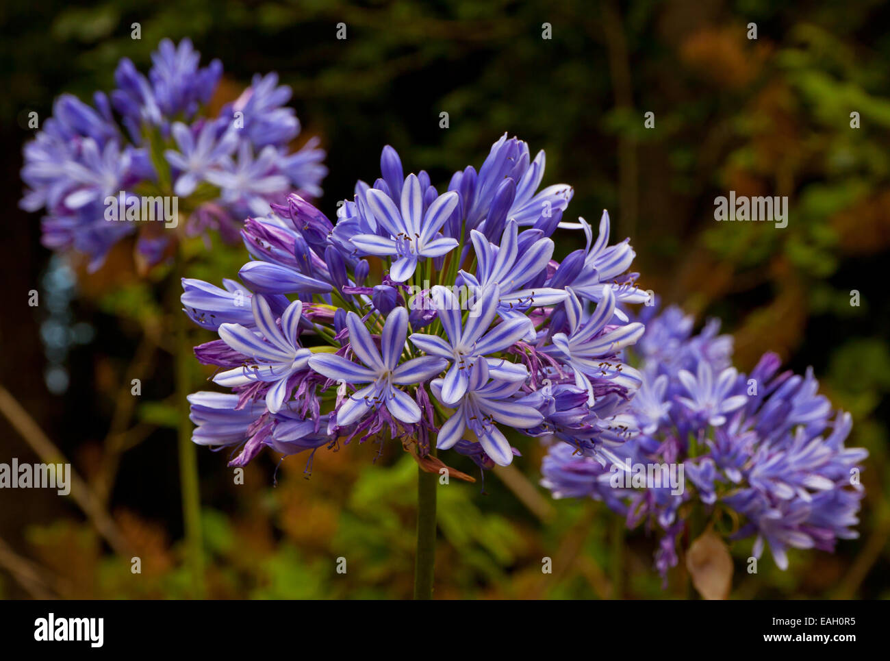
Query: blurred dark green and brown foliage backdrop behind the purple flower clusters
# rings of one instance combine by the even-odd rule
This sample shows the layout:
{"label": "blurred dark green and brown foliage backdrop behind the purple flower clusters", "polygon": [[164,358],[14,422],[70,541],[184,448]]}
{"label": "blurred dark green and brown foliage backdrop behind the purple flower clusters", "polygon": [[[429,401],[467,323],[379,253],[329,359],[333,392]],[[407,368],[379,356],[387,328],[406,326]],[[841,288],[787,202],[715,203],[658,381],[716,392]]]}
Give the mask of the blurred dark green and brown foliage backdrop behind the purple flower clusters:
{"label": "blurred dark green and brown foliage backdrop behind the purple flower clusters", "polygon": [[[890,597],[890,4],[30,0],[5,3],[0,22],[0,385],[108,517],[97,526],[49,490],[0,492],[0,596],[192,596],[169,354],[179,306],[163,293],[172,275],[137,275],[132,244],[87,275],[76,258],[42,248],[39,217],[16,206],[29,111],[46,118],[61,92],[109,90],[120,57],[146,70],[161,38],[190,37],[202,61],[223,61],[214,103],[255,72],[277,70],[292,86],[301,139],[320,135],[328,150],[319,205],[329,217],[356,179],[378,175],[386,143],[407,171],[425,168],[441,185],[479,167],[505,131],[545,149],[544,184],[575,187],[569,218],[595,222],[610,209],[644,288],[700,322],[722,319],[742,370],[765,350],[796,371],[812,365],[853,413],[848,445],[870,450],[861,538],[835,554],[794,551],[785,572],[765,556],[757,575],[745,571],[750,542],[736,544],[732,598]],[[134,22],[141,40],[130,37]],[[729,190],[787,195],[788,227],[715,223],[713,200]],[[560,256],[577,241],[562,236]],[[191,250],[191,274],[213,282],[245,257],[218,241]],[[29,307],[34,289],[41,304]],[[210,334],[196,328],[192,339]],[[207,374],[195,363],[195,389]],[[130,395],[134,378],[142,396]],[[0,461],[40,461],[40,434],[28,436],[0,417]],[[437,597],[690,594],[682,569],[662,587],[645,531],[624,535],[600,503],[551,501],[537,486],[543,450],[533,440],[522,450],[516,469],[484,485],[440,488]],[[206,596],[410,596],[416,469],[398,443],[319,453],[308,478],[305,457],[264,453],[243,486],[227,459],[199,454]],[[449,457],[477,475],[462,459]],[[116,552],[101,526],[132,553]],[[545,556],[552,575],[542,575]]]}

